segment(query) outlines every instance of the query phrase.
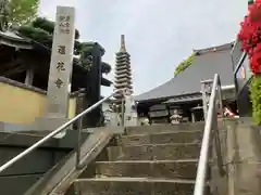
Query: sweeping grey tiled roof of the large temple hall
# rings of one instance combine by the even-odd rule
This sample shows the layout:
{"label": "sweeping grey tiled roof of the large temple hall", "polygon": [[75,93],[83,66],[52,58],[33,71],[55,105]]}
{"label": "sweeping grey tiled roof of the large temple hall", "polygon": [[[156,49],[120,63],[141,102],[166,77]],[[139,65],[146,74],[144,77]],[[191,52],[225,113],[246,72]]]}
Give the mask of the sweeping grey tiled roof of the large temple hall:
{"label": "sweeping grey tiled roof of the large temple hall", "polygon": [[199,93],[200,81],[213,79],[214,74],[220,75],[222,86],[234,84],[231,57],[232,47],[233,43],[227,43],[203,50],[195,50],[197,55],[190,67],[162,86],[135,96],[135,100],[142,102]]}

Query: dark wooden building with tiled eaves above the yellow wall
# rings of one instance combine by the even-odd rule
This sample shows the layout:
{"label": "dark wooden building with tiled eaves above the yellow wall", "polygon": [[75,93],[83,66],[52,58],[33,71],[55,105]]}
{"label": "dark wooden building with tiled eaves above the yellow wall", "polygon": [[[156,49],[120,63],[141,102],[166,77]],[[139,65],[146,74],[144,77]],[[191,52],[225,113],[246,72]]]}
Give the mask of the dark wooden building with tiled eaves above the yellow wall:
{"label": "dark wooden building with tiled eaves above the yellow wall", "polygon": [[[34,40],[22,38],[13,31],[0,31],[0,77],[27,86],[47,90],[51,50]],[[87,88],[88,69],[73,62],[72,92]],[[111,81],[101,78],[101,84],[110,87]]]}

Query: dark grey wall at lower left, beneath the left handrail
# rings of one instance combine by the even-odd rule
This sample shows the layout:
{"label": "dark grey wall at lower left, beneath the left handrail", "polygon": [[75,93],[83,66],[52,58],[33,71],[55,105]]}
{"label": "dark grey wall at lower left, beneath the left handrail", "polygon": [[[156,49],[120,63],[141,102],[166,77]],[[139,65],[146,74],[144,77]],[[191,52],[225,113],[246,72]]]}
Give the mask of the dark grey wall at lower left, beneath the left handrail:
{"label": "dark grey wall at lower left, beneath the left handrail", "polygon": [[[82,142],[88,136],[83,133]],[[0,165],[13,158],[42,138],[40,134],[0,132]],[[77,142],[77,132],[69,131],[63,139],[51,139],[12,167],[0,173],[1,195],[22,195],[54,165],[70,155]]]}

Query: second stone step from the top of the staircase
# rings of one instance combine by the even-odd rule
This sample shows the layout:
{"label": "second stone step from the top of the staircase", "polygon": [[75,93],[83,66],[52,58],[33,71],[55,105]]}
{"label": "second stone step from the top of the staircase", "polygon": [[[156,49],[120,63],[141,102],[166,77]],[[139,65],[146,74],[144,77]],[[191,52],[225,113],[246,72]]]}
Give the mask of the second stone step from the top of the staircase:
{"label": "second stone step from the top of the staircase", "polygon": [[165,143],[200,143],[202,131],[177,131],[153,134],[122,135],[119,145],[165,144]]}

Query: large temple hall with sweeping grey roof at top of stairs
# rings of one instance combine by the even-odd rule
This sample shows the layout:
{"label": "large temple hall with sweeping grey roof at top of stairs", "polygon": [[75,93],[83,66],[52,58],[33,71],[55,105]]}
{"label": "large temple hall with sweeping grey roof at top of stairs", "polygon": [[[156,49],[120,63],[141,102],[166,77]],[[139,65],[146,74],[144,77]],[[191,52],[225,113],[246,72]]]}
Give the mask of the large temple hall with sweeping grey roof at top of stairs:
{"label": "large temple hall with sweeping grey roof at top of stairs", "polygon": [[189,67],[167,82],[135,96],[138,116],[152,123],[170,122],[178,113],[184,121],[203,120],[201,81],[219,74],[222,82],[224,105],[237,109],[231,51],[234,42],[195,50]]}

